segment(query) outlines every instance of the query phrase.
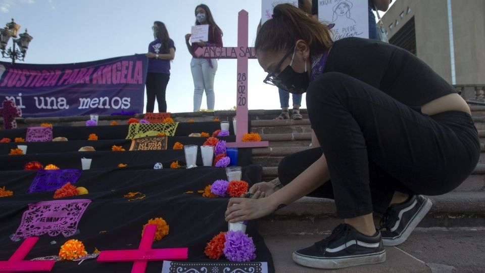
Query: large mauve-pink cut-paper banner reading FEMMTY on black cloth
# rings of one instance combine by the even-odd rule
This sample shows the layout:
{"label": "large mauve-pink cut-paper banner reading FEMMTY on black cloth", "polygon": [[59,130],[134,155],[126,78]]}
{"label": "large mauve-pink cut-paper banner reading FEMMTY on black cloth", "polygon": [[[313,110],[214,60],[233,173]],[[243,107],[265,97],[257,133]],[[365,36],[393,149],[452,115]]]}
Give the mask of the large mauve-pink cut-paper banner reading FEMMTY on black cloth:
{"label": "large mauve-pink cut-paper banner reading FEMMTY on black cloth", "polygon": [[12,241],[30,236],[69,237],[75,234],[77,225],[87,206],[91,203],[89,199],[71,199],[42,201],[29,204],[29,208],[22,215],[19,228],[10,236]]}

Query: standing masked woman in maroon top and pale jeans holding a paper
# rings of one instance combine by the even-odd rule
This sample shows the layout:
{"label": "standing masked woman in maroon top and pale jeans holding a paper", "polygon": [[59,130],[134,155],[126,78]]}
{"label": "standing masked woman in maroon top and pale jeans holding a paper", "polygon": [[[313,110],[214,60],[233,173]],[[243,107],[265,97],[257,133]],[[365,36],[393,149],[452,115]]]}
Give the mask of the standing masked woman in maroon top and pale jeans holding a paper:
{"label": "standing masked woman in maroon top and pale jeans holding a paper", "polygon": [[211,10],[204,4],[196,7],[196,25],[209,25],[209,40],[192,42],[190,45],[190,34],[185,35],[185,43],[188,52],[192,55],[190,70],[193,78],[193,111],[197,112],[201,108],[202,95],[206,90],[207,109],[214,110],[214,77],[217,71],[216,59],[197,58],[195,52],[203,47],[222,47],[222,30],[214,21]]}

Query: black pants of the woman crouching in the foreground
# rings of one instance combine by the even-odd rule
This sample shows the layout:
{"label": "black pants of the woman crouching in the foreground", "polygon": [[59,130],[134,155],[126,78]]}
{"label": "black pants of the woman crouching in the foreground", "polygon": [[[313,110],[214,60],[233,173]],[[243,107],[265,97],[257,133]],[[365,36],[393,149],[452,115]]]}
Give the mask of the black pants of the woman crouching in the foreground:
{"label": "black pants of the woman crouching in the foreground", "polygon": [[478,133],[468,113],[423,115],[346,74],[328,72],[313,81],[307,108],[321,147],[282,159],[278,177],[286,185],[324,154],[330,181],[309,196],[334,199],[340,218],[383,213],[395,191],[450,192],[478,162]]}

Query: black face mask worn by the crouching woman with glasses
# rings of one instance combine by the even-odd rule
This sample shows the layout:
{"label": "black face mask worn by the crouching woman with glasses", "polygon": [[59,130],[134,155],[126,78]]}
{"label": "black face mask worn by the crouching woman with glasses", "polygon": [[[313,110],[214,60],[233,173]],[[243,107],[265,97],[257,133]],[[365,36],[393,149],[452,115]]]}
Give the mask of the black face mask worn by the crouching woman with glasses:
{"label": "black face mask worn by the crouching woman with glasses", "polygon": [[[280,61],[279,65],[277,65],[277,68],[279,68],[281,63],[286,59],[287,55],[289,54],[285,55],[285,57]],[[293,51],[292,61],[289,63],[289,65],[286,66],[285,69],[278,74],[278,76],[275,76],[274,72],[268,74],[264,82],[275,85],[278,88],[292,94],[303,94],[307,92],[308,85],[310,84],[310,78],[308,77],[307,72],[307,60],[305,59],[305,72],[298,73],[292,68],[294,58],[295,51]]]}

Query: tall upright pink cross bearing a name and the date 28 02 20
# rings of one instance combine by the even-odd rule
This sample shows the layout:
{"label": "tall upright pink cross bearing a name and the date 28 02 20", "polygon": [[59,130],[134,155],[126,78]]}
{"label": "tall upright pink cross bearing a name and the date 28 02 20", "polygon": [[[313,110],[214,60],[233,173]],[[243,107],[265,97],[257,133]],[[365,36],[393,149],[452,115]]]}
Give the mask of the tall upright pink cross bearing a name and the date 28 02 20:
{"label": "tall upright pink cross bearing a name and the date 28 02 20", "polygon": [[236,142],[227,143],[227,147],[268,147],[267,141],[242,141],[243,135],[248,132],[248,59],[256,59],[254,48],[248,47],[248,12],[241,10],[238,14],[236,48],[199,48],[196,56],[208,59],[237,59]]}

